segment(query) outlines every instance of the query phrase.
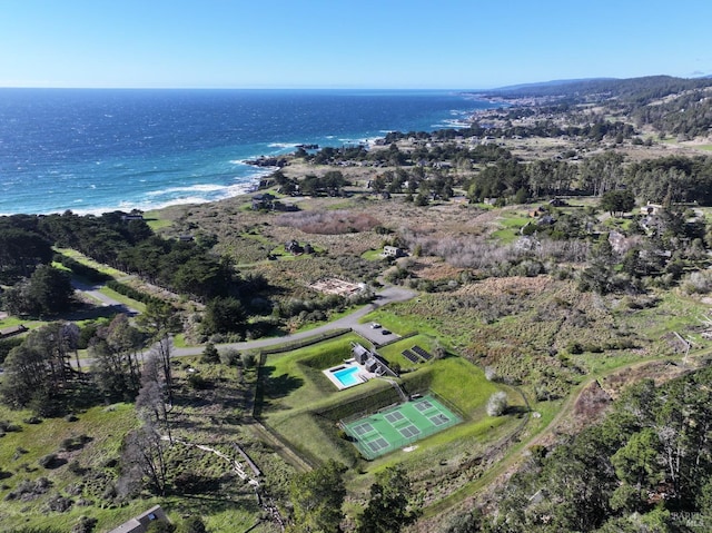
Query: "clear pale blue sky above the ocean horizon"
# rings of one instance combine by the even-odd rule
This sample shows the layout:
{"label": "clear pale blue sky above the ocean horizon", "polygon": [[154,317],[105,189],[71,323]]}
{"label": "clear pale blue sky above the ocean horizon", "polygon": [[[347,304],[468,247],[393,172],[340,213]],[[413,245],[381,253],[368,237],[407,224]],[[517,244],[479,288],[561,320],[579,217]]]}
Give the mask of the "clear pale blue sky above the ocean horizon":
{"label": "clear pale blue sky above the ocean horizon", "polygon": [[712,73],[701,0],[0,0],[0,87],[479,89]]}

